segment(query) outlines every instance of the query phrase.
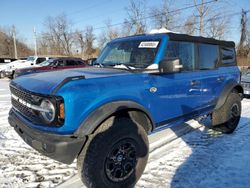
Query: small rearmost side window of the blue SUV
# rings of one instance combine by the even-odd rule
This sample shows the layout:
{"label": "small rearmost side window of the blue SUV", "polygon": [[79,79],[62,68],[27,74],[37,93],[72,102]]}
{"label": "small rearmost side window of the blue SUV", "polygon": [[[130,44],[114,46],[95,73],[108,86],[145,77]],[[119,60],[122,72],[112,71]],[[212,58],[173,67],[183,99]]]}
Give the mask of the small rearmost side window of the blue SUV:
{"label": "small rearmost side window of the blue SUV", "polygon": [[220,52],[222,65],[236,64],[234,48],[221,47]]}

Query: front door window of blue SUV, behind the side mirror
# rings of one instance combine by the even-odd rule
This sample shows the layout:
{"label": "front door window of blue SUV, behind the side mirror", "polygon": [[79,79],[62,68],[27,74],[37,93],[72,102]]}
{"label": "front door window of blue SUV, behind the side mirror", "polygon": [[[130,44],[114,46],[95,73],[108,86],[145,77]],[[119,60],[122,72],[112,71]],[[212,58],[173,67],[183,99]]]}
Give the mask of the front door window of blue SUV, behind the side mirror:
{"label": "front door window of blue SUV, behind the side mirror", "polygon": [[195,45],[191,42],[169,41],[166,59],[179,58],[184,71],[195,69]]}

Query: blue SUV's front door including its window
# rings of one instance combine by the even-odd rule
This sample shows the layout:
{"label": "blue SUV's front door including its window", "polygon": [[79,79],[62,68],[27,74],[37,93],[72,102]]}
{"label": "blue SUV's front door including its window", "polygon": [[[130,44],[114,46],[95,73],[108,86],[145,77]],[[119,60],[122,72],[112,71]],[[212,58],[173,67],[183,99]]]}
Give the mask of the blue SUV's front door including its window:
{"label": "blue SUV's front door including its window", "polygon": [[150,85],[154,117],[157,125],[185,120],[200,109],[201,77],[196,71],[196,45],[191,42],[169,41],[166,59],[179,58],[183,69],[178,73],[151,75]]}

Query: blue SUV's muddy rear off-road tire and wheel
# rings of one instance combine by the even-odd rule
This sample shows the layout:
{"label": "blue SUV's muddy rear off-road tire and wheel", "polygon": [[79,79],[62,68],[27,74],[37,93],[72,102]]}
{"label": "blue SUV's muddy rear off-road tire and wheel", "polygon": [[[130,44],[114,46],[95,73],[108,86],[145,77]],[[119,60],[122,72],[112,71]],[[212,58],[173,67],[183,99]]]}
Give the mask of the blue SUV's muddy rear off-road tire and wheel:
{"label": "blue SUV's muddy rear off-road tire and wheel", "polygon": [[212,129],[230,134],[240,121],[241,97],[237,92],[228,95],[223,106],[212,113]]}

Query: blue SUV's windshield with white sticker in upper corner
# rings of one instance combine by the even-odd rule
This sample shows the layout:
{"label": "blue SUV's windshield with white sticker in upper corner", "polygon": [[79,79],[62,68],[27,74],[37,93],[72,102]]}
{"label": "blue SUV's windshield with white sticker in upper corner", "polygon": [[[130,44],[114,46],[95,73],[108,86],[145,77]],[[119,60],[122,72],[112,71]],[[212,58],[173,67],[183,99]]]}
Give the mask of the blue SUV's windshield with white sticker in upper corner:
{"label": "blue SUV's windshield with white sticker in upper corner", "polygon": [[112,42],[104,48],[96,64],[115,68],[116,65],[124,65],[129,69],[147,68],[154,62],[159,43],[159,40]]}

